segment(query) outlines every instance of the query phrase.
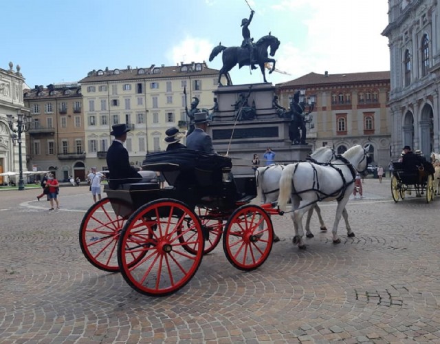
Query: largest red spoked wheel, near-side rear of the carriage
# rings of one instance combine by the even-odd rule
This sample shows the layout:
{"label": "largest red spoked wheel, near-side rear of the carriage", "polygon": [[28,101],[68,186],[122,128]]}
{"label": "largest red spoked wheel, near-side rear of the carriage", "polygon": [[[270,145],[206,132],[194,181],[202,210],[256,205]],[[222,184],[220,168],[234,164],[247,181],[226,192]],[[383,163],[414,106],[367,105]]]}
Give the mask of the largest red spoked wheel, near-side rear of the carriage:
{"label": "largest red spoked wheel, near-side rear of the carriage", "polygon": [[[118,243],[120,272],[137,292],[150,296],[172,294],[197,272],[204,244],[200,221],[186,204],[155,200],[137,209],[122,229]],[[185,247],[194,248],[195,254]],[[142,259],[131,264],[140,252]]]}

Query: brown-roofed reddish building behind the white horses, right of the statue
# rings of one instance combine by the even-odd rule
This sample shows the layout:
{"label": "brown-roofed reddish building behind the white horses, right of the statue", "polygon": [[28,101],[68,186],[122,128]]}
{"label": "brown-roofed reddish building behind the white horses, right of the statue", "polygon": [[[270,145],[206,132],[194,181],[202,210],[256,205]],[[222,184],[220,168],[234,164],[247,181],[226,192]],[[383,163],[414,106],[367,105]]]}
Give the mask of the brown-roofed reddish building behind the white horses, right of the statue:
{"label": "brown-roofed reddish building behind the white horses, right of the statue", "polygon": [[285,108],[297,90],[303,90],[306,100],[315,100],[313,121],[307,128],[307,143],[312,149],[327,145],[343,153],[354,144],[370,144],[373,164],[388,166],[389,72],[310,73],[276,86]]}

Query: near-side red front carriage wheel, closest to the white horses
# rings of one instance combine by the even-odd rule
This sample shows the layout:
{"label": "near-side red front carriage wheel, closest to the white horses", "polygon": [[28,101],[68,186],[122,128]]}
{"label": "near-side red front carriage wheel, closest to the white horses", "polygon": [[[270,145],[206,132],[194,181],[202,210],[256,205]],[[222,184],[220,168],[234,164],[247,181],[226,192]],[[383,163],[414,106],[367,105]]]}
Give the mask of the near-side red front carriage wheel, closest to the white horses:
{"label": "near-side red front carriage wheel, closest to the white horses", "polygon": [[260,206],[249,204],[236,209],[228,219],[223,250],[236,268],[254,270],[269,257],[273,239],[270,216]]}

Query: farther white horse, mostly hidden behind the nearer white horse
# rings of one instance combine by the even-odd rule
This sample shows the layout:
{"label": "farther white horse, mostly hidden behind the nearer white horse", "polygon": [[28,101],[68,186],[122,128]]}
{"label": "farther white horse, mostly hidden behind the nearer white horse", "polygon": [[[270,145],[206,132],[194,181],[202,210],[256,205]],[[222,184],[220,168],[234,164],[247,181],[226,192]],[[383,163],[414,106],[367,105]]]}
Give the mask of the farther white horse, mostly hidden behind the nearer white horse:
{"label": "farther white horse, mostly hidden behind the nearer white horse", "polygon": [[[320,147],[311,153],[309,160],[316,162],[331,162],[336,158],[335,151],[331,147]],[[280,191],[280,179],[281,173],[285,165],[272,164],[270,166],[259,167],[256,169],[256,186],[257,186],[257,197],[261,200],[263,204],[276,202],[278,199],[278,193]],[[305,224],[306,237],[314,237],[310,230],[310,220],[311,215],[313,215],[314,210],[318,214],[318,219],[320,223],[320,230],[326,231],[324,221],[321,216],[321,209],[318,204],[314,204],[314,207],[309,209],[307,213],[307,220]],[[347,224],[347,223],[346,223]],[[278,235],[274,235],[274,241],[279,241]]]}

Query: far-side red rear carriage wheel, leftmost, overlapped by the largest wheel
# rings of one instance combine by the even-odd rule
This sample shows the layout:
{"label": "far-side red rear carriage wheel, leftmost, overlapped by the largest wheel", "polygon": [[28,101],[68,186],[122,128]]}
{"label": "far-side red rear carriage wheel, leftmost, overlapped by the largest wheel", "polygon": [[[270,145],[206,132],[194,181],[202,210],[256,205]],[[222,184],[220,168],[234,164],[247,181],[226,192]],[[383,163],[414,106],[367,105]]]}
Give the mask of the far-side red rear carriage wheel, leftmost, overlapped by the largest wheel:
{"label": "far-side red rear carriage wheel, leftmost, overlapped by the largest wheel", "polygon": [[[124,227],[126,217],[116,214],[129,214],[130,206],[118,200],[103,198],[89,208],[80,225],[79,239],[83,255],[96,268],[118,272],[116,248]],[[127,216],[128,217],[128,216]],[[133,257],[133,261],[140,256]]]}

